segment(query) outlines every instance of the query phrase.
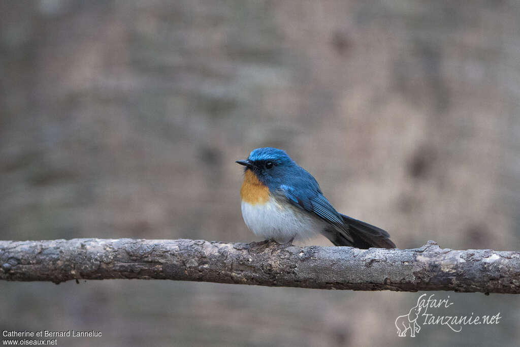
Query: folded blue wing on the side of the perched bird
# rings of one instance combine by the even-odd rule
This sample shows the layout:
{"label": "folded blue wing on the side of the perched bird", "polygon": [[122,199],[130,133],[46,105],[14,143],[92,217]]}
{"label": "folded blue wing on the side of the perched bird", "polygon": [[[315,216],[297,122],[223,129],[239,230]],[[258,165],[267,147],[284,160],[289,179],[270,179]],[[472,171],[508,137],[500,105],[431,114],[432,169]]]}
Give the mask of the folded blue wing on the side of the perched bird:
{"label": "folded blue wing on the side of the perched bird", "polygon": [[341,230],[348,240],[353,240],[345,227],[343,217],[332,207],[329,200],[323,196],[319,186],[296,190],[288,185],[281,185],[280,190],[291,204],[316,214],[322,220]]}

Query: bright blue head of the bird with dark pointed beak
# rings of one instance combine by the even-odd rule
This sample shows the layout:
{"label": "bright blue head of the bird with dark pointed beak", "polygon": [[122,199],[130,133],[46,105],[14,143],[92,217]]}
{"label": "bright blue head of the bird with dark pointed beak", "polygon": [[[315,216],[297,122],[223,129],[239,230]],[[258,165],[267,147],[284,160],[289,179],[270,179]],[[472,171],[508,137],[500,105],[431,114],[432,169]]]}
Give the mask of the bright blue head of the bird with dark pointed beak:
{"label": "bright blue head of the bird with dark pointed beak", "polygon": [[244,165],[244,171],[251,170],[265,185],[281,183],[296,166],[284,150],[272,147],[256,148],[248,159],[237,160],[236,163]]}

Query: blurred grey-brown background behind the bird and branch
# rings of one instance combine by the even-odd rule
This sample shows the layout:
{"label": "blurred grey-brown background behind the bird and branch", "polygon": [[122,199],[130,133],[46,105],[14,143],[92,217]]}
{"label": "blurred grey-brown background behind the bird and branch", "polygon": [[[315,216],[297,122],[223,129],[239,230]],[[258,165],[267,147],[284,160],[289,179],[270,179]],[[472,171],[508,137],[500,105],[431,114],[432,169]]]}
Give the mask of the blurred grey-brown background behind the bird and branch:
{"label": "blurred grey-brown background behind the bird and branch", "polygon": [[[520,249],[516,1],[0,2],[0,239],[257,240],[242,169],[287,150],[399,248]],[[326,239],[308,244],[330,246]],[[0,283],[0,330],[59,345],[515,345],[394,320],[419,293],[173,281]]]}

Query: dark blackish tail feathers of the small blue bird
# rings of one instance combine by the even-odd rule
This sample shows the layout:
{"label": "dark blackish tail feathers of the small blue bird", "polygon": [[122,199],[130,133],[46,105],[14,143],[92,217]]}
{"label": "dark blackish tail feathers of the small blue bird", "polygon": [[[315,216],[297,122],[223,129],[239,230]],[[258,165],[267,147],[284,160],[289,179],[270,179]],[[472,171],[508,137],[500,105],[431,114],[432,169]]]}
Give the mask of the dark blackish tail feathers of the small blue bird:
{"label": "dark blackish tail feathers of the small blue bird", "polygon": [[353,246],[361,249],[369,249],[370,247],[396,248],[394,242],[390,240],[390,235],[385,230],[344,214],[341,216],[354,241],[350,242],[337,230],[328,230],[326,236],[330,236],[329,239],[335,246]]}

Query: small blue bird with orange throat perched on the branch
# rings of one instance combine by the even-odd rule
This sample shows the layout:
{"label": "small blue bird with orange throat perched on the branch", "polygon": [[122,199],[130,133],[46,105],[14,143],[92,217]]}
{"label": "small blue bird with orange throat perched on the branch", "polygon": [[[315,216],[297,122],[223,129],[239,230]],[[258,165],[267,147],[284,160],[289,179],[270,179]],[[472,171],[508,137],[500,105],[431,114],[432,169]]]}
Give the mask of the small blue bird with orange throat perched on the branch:
{"label": "small blue bird with orange throat perched on the branch", "polygon": [[337,212],[284,150],[256,148],[236,163],[244,166],[242,217],[255,235],[292,245],[322,234],[334,246],[396,248],[385,230]]}

